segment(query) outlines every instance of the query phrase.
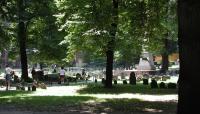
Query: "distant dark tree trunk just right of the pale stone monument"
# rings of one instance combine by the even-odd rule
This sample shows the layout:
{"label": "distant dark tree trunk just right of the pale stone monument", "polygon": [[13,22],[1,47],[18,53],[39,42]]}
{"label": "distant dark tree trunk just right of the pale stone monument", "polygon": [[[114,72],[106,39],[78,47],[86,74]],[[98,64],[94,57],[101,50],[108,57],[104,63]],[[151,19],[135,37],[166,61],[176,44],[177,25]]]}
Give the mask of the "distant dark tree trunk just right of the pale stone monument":
{"label": "distant dark tree trunk just right of the pale stone monument", "polygon": [[[168,37],[168,35],[167,35]],[[162,68],[161,72],[166,73],[169,67],[169,54],[168,54],[168,48],[169,48],[169,40],[167,38],[164,39],[164,52],[162,53]]]}

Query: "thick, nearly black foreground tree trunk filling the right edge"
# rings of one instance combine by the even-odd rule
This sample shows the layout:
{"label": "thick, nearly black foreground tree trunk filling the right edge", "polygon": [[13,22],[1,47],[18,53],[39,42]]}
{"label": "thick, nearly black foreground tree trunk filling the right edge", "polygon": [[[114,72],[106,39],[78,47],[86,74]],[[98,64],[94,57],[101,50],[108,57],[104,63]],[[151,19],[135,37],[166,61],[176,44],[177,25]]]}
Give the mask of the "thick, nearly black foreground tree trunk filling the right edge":
{"label": "thick, nearly black foreground tree trunk filling the right edge", "polygon": [[177,114],[195,114],[200,106],[200,1],[178,1],[180,75]]}

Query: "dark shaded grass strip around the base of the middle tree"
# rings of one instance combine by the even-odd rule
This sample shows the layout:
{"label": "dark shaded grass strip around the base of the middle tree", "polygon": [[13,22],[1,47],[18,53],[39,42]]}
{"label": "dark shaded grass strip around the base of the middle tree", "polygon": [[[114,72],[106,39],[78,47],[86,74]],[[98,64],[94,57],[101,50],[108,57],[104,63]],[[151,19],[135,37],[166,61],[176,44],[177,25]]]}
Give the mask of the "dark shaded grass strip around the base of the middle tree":
{"label": "dark shaded grass strip around the base of the middle tree", "polygon": [[105,88],[102,84],[88,84],[86,88],[78,91],[80,94],[122,94],[140,93],[152,95],[177,94],[177,89],[151,89],[149,85],[113,85],[113,88]]}

